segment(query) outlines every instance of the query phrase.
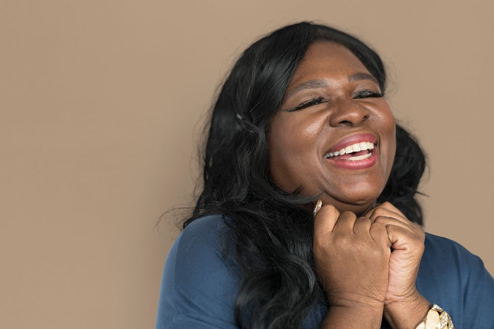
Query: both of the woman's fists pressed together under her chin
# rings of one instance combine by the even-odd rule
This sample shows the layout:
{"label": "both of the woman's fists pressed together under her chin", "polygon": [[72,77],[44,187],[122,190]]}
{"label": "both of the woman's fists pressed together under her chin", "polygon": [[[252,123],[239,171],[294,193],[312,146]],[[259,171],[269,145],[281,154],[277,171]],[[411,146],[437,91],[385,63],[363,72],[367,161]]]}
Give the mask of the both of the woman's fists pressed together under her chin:
{"label": "both of the woman's fists pressed together under her chin", "polygon": [[420,225],[389,202],[359,218],[323,205],[314,219],[313,249],[329,305],[380,308],[386,315],[395,305],[424,304],[415,287],[424,240]]}

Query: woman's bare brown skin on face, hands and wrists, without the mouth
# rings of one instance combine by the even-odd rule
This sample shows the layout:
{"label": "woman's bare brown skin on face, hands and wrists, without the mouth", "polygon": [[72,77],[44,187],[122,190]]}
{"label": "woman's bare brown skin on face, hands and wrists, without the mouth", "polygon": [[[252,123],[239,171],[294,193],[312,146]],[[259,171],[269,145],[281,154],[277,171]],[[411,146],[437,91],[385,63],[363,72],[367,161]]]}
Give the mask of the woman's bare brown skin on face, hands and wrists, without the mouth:
{"label": "woman's bare brown skin on face, hands and wrists, without the mouth", "polygon": [[[380,328],[384,315],[393,328],[413,329],[430,306],[415,288],[423,229],[389,202],[375,206],[396,151],[395,121],[380,93],[352,52],[317,41],[270,123],[274,181],[287,191],[322,193],[313,249],[331,306],[321,328]],[[331,146],[355,134],[375,136],[374,165],[348,169],[326,159]]]}

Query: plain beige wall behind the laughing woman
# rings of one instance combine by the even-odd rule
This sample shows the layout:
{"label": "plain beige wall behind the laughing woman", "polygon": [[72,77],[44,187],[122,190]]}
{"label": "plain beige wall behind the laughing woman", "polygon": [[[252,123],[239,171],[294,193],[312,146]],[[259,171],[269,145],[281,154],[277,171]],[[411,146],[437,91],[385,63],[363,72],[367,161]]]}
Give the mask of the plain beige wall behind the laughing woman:
{"label": "plain beige wall behind the laughing woman", "polygon": [[307,19],[383,56],[426,229],[493,273],[492,3],[2,0],[0,327],[154,327],[176,236],[154,225],[191,204],[198,122],[248,44]]}

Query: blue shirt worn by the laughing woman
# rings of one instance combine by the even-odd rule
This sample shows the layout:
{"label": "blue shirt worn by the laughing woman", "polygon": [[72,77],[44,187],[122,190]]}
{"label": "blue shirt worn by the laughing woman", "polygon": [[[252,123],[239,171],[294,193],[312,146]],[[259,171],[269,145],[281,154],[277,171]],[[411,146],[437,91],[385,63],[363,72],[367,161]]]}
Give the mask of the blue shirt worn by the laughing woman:
{"label": "blue shirt worn by the laughing woman", "polygon": [[[156,329],[238,329],[240,279],[222,256],[221,215],[194,220],[178,236],[165,263]],[[447,311],[460,329],[494,329],[494,280],[482,260],[458,243],[426,233],[417,290]],[[321,305],[304,321],[319,328]],[[383,318],[381,328],[389,327]]]}

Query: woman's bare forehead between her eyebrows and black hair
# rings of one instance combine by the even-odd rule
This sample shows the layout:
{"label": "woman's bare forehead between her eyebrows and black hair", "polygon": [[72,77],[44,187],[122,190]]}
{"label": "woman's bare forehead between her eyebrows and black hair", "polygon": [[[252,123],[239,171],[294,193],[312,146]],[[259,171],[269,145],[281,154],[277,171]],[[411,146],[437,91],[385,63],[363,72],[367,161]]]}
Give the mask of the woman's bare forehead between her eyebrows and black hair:
{"label": "woman's bare forehead between her eyebrows and black hair", "polygon": [[332,41],[316,41],[307,48],[293,73],[288,89],[307,80],[337,79],[355,73],[369,71],[348,48]]}

